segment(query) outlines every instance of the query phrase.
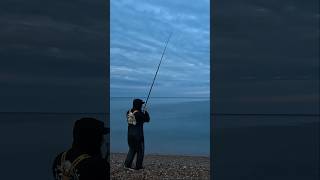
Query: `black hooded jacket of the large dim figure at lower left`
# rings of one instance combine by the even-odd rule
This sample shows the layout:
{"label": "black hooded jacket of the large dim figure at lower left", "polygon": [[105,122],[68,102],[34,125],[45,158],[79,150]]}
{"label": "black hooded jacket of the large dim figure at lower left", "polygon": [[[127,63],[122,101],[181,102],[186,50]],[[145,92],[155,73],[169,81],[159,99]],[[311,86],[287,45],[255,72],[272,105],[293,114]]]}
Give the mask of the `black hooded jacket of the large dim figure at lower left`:
{"label": "black hooded jacket of the large dim figure at lower left", "polygon": [[[82,119],[79,122],[75,124],[73,144],[71,149],[67,151],[65,159],[73,162],[80,155],[87,154],[90,157],[82,160],[75,168],[79,175],[79,180],[109,179],[109,163],[101,154],[103,134],[99,128],[94,127],[103,126],[102,122],[93,119]],[[62,154],[63,152],[54,159],[52,165],[55,180],[60,180],[58,166],[61,165]]]}

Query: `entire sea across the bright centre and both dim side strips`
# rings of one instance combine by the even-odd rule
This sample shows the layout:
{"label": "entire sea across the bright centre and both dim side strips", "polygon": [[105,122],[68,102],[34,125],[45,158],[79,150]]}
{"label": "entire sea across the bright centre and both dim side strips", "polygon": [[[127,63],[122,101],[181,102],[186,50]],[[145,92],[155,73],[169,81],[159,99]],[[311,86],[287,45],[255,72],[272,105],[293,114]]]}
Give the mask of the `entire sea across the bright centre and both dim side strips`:
{"label": "entire sea across the bright centre and both dim side strips", "polygon": [[[111,98],[111,152],[128,151],[125,113],[131,106],[132,98]],[[151,98],[148,111],[146,154],[210,155],[208,99]],[[52,179],[53,159],[70,148],[73,124],[81,117],[108,119],[106,113],[0,113],[1,179]],[[270,177],[265,179],[315,179],[319,121],[318,115],[216,116],[214,174],[217,179],[259,179],[266,172]]]}

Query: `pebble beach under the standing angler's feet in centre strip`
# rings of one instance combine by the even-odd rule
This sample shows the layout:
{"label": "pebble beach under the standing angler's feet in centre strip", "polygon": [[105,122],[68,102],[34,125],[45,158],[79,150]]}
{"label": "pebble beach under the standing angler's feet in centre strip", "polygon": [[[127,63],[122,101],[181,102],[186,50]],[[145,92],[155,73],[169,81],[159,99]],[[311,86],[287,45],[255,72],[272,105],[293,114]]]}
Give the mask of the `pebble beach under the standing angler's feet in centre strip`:
{"label": "pebble beach under the standing angler's feet in centre strip", "polygon": [[[210,158],[204,156],[145,155],[142,170],[123,168],[126,154],[111,153],[110,167],[112,180],[144,179],[194,179],[210,178]],[[135,162],[135,160],[134,160]]]}

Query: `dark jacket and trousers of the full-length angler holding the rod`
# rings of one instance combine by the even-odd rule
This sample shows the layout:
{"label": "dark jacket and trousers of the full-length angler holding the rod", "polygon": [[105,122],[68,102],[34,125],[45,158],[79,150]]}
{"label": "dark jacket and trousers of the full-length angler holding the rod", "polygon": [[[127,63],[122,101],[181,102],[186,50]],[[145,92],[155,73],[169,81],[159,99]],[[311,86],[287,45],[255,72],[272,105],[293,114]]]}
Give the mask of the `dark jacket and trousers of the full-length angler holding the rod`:
{"label": "dark jacket and trousers of the full-length angler holding the rod", "polygon": [[[130,111],[133,112],[136,109],[131,109]],[[127,115],[129,111],[127,112]],[[144,156],[144,134],[143,134],[143,123],[150,121],[150,116],[147,111],[144,113],[139,110],[134,114],[136,119],[136,125],[129,124],[128,125],[128,145],[129,145],[129,152],[127,154],[127,158],[125,161],[126,167],[132,166],[132,161],[134,156],[137,155],[136,161],[136,169],[142,168],[143,163],[143,156]]]}

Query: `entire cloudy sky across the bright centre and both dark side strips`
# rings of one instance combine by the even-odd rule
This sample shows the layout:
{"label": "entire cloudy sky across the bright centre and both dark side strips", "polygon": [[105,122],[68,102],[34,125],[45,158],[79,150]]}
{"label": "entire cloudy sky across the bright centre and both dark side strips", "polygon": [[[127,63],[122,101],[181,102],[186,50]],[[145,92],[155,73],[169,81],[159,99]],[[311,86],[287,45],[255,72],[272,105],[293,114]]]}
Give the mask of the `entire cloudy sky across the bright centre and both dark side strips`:
{"label": "entire cloudy sky across the bright centre and both dark side strips", "polygon": [[[0,111],[105,111],[106,3],[0,2]],[[318,0],[110,3],[111,96],[146,96],[173,31],[153,97],[208,97],[211,46],[215,112],[319,113]]]}

